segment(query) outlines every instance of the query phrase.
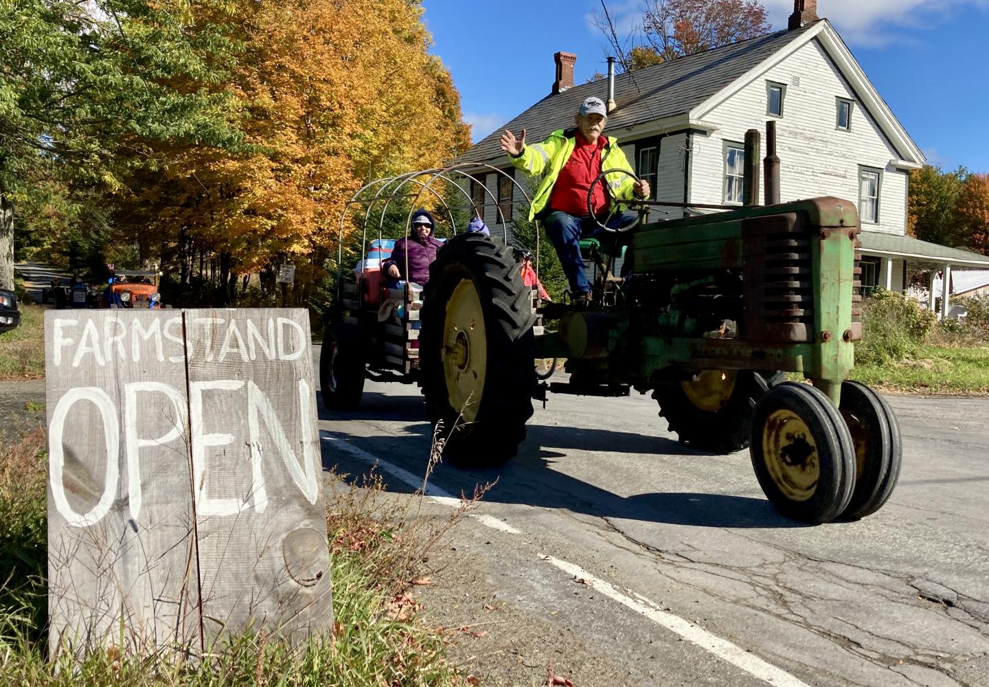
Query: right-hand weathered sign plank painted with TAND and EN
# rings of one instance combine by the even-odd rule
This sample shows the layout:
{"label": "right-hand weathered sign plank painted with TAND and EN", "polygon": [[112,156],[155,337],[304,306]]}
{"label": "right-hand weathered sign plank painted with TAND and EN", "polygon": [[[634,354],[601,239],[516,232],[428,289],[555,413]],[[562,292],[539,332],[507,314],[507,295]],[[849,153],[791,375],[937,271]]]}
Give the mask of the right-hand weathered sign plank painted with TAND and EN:
{"label": "right-hand weathered sign plank painted with TAND and EN", "polygon": [[[332,627],[313,351],[304,310],[186,314],[208,638]],[[262,333],[246,344],[248,332]],[[253,335],[252,335],[253,336]]]}

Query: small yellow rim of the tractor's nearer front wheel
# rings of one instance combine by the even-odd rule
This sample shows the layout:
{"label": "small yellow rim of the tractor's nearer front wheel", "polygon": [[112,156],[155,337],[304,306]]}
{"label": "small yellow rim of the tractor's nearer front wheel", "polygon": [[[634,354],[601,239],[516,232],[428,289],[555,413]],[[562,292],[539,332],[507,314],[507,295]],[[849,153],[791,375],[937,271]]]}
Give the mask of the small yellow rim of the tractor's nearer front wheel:
{"label": "small yellow rim of the tractor's nearer front wheel", "polygon": [[774,411],[763,426],[763,460],[769,477],[790,501],[814,495],[820,455],[807,424],[791,410]]}

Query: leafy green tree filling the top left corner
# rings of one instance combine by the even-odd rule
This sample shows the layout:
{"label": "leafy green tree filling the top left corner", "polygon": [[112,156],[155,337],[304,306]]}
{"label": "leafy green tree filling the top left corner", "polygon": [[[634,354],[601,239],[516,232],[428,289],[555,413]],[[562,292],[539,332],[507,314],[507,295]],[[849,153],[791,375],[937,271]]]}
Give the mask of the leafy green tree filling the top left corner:
{"label": "leafy green tree filling the top left corner", "polygon": [[53,181],[71,202],[160,164],[147,141],[238,143],[219,87],[235,44],[222,21],[192,22],[220,20],[225,2],[0,0],[0,287],[13,284],[15,208]]}

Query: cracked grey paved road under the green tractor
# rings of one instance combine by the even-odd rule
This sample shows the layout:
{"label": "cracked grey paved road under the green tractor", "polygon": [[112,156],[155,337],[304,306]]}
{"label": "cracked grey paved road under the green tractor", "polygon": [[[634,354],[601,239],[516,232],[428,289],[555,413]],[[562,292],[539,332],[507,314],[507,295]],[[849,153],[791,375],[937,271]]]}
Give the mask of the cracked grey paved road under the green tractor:
{"label": "cracked grey paved road under the green tractor", "polygon": [[[779,517],[748,451],[679,444],[648,396],[551,396],[503,470],[439,465],[431,484],[497,478],[455,567],[512,619],[507,650],[556,655],[582,687],[989,685],[989,400],[889,401],[903,471],[857,523]],[[368,383],[360,411],[323,411],[324,463],[379,457],[408,491],[422,417],[415,387]]]}

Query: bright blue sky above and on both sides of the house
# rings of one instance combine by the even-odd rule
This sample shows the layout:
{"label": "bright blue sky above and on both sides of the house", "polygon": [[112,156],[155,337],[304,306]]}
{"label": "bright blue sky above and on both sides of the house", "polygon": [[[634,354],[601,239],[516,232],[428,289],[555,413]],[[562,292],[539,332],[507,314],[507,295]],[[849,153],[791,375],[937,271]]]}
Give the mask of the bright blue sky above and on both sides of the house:
{"label": "bright blue sky above and on both sides of the house", "polygon": [[[631,29],[642,0],[606,0]],[[763,0],[773,29],[792,0]],[[590,23],[600,0],[422,0],[433,53],[460,91],[479,141],[553,84],[553,53],[577,53],[575,79],[606,70]],[[932,164],[989,171],[989,0],[818,0],[827,17]]]}

